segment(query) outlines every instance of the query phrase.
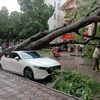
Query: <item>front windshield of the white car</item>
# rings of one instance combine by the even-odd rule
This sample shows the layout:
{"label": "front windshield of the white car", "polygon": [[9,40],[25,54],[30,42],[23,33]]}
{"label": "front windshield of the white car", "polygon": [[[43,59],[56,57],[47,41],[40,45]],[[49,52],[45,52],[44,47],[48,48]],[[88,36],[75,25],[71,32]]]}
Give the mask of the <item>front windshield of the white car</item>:
{"label": "front windshield of the white car", "polygon": [[20,55],[23,59],[41,58],[41,56],[36,52],[21,52]]}

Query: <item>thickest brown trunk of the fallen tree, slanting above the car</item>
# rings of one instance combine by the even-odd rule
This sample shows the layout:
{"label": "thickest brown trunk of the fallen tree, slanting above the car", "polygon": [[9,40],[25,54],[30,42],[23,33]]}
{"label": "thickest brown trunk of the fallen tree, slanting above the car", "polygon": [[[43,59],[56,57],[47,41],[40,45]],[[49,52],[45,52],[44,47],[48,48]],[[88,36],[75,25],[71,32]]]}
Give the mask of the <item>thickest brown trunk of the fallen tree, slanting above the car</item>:
{"label": "thickest brown trunk of the fallen tree, slanting above the car", "polygon": [[74,23],[73,25],[69,25],[66,27],[63,27],[62,29],[58,29],[48,35],[46,35],[45,37],[30,43],[30,45],[28,45],[27,47],[25,47],[24,49],[27,50],[28,48],[30,49],[42,49],[44,48],[46,45],[48,45],[52,40],[54,40],[55,38],[65,34],[65,33],[71,33],[71,32],[75,32],[76,30],[85,27],[89,24],[92,24],[93,22],[100,22],[100,17],[99,16],[90,16],[90,17],[85,17],[82,18],[81,20],[79,20],[78,22]]}

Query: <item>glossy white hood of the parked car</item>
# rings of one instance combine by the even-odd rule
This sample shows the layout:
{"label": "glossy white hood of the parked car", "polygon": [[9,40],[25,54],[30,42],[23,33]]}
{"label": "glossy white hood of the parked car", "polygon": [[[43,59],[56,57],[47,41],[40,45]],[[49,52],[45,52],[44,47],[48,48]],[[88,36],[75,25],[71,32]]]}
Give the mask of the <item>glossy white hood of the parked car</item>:
{"label": "glossy white hood of the parked car", "polygon": [[52,67],[52,66],[60,65],[59,62],[48,57],[27,59],[27,62],[33,64],[34,66],[43,66],[43,67]]}

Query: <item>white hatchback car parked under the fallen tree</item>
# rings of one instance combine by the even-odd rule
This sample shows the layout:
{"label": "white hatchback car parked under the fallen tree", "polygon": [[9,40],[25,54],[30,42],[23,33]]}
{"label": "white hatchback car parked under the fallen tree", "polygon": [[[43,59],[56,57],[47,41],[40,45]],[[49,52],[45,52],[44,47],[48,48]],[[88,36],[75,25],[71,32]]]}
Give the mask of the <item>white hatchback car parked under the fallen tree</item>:
{"label": "white hatchback car parked under the fallen tree", "polygon": [[54,59],[41,57],[35,51],[12,51],[1,58],[1,67],[32,80],[50,76],[61,65]]}

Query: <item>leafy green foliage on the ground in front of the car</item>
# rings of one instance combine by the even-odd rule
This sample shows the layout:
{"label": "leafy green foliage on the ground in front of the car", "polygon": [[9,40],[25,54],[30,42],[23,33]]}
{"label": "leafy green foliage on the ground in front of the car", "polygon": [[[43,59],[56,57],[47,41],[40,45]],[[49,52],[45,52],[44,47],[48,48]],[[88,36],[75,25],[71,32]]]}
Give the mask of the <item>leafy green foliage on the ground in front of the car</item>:
{"label": "leafy green foliage on the ground in front of the car", "polygon": [[79,97],[82,100],[92,100],[93,93],[100,92],[100,83],[93,78],[79,74],[77,70],[65,69],[62,73],[53,74],[53,80],[48,87]]}

